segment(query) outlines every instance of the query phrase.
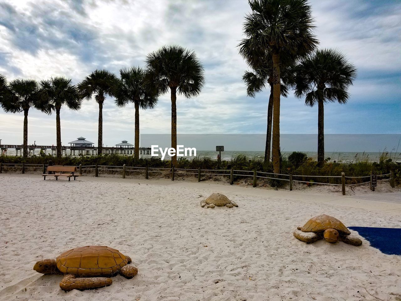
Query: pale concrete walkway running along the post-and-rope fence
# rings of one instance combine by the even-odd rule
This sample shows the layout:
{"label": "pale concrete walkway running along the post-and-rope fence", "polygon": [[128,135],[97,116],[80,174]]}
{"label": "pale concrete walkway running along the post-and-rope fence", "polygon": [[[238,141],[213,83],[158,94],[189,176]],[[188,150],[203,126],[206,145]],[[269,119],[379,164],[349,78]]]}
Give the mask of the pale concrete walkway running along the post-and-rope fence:
{"label": "pale concrete walkway running along the post-and-rope fence", "polygon": [[[2,174],[4,177],[26,177],[26,178],[38,178],[43,179],[41,175],[37,174]],[[122,179],[121,177],[91,177],[85,176],[80,179],[81,181],[104,181],[104,182],[124,182],[124,183],[140,183],[144,185],[166,185],[175,186],[182,188],[194,188],[194,189],[207,189],[213,191],[219,191],[229,196],[230,194],[241,194],[241,195],[252,195],[260,196],[264,198],[274,197],[275,199],[292,199],[304,202],[313,203],[328,203],[330,205],[360,208],[371,211],[387,212],[401,216],[401,192],[395,191],[390,193],[377,193],[369,192],[367,194],[346,196],[338,193],[308,193],[306,190],[293,190],[278,189],[274,190],[271,188],[260,188],[260,187],[244,187],[239,185],[229,185],[224,182],[213,182],[213,181],[202,181],[202,182],[190,182],[190,181],[170,181],[168,179]],[[4,179],[6,181],[6,179]],[[4,183],[4,181],[2,183]],[[49,179],[47,181],[54,181]],[[63,179],[59,179],[63,181]],[[64,180],[66,181],[66,180]],[[71,181],[68,185],[79,185],[79,180]]]}

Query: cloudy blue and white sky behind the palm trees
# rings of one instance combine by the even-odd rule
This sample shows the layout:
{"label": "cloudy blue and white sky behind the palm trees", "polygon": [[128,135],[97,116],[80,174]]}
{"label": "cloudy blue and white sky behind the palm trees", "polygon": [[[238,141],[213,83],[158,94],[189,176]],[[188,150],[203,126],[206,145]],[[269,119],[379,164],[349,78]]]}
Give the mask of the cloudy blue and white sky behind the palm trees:
{"label": "cloudy blue and white sky behind the palm trees", "polygon": [[[336,48],[358,69],[348,104],[327,104],[326,134],[401,133],[401,1],[311,0],[320,48]],[[78,83],[95,69],[144,66],[148,53],[178,44],[205,68],[198,97],[177,98],[179,134],[265,134],[269,91],[246,95],[248,69],[238,54],[246,0],[0,0],[0,73],[8,80],[66,76]],[[61,110],[61,141],[83,136],[97,146],[99,109]],[[21,144],[23,114],[0,109],[2,144]],[[141,134],[171,130],[170,95],[140,111]],[[31,109],[28,144],[55,144],[55,115]],[[317,108],[282,98],[283,134],[316,134]],[[134,141],[134,107],[103,107],[103,143]]]}

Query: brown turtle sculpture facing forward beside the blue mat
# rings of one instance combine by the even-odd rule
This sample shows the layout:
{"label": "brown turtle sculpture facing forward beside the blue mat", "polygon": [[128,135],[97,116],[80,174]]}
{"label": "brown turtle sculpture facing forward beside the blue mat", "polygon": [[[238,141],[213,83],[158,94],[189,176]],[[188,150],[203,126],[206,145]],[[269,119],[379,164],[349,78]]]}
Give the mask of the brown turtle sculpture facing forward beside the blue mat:
{"label": "brown turtle sculpture facing forward beside the blue mat", "polygon": [[303,227],[294,231],[294,236],[308,244],[324,238],[326,242],[342,241],[346,244],[360,246],[362,240],[350,235],[351,232],[342,222],[326,214],[315,216],[306,222]]}

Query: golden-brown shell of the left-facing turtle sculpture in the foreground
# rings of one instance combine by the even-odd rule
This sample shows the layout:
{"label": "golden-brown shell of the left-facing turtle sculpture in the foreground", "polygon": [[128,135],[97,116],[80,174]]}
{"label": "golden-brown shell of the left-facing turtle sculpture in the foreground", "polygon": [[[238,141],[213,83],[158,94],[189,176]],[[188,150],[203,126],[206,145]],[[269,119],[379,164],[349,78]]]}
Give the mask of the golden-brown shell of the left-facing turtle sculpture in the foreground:
{"label": "golden-brown shell of the left-facing turtle sculpture in the foreground", "polygon": [[112,276],[128,262],[126,256],[107,246],[73,248],[56,258],[57,268],[61,273],[81,277]]}

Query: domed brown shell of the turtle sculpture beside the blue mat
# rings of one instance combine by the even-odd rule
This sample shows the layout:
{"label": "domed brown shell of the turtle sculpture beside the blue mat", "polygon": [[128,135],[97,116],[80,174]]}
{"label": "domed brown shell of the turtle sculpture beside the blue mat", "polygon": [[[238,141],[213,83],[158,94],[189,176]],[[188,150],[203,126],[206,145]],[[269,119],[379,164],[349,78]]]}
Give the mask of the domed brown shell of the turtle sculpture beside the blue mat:
{"label": "domed brown shell of the turtle sculpture beside the blue mat", "polygon": [[314,232],[320,233],[324,232],[326,229],[335,229],[342,235],[350,235],[351,232],[346,226],[336,218],[322,214],[315,216],[306,222],[303,227],[298,227],[298,230],[302,232]]}

